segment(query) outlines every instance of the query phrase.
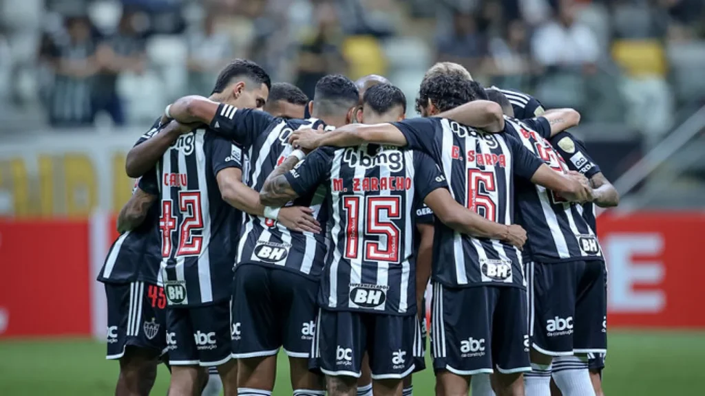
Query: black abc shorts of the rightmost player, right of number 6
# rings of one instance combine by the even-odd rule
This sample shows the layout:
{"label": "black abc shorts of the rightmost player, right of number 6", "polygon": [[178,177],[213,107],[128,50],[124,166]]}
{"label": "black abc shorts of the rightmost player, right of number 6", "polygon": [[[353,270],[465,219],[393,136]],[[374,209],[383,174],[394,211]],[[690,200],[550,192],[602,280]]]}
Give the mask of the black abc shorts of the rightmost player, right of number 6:
{"label": "black abc shorts of the rightmost player, right of number 6", "polygon": [[606,352],[604,261],[529,262],[527,278],[534,349],[551,356]]}

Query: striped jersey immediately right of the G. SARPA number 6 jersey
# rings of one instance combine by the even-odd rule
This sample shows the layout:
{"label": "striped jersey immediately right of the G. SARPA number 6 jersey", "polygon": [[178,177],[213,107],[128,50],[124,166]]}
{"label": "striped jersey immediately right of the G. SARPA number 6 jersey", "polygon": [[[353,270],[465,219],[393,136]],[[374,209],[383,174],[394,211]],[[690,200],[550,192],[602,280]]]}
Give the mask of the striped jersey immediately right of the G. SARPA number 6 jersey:
{"label": "striped jersey immediately right of the G. SARPA number 6 jersey", "polygon": [[[532,154],[554,171],[568,167],[551,143],[546,118],[517,120],[505,117],[505,133],[517,137]],[[566,201],[546,187],[517,180],[517,222],[527,230],[525,258],[543,263],[602,259],[594,230],[583,218],[583,207]]]}

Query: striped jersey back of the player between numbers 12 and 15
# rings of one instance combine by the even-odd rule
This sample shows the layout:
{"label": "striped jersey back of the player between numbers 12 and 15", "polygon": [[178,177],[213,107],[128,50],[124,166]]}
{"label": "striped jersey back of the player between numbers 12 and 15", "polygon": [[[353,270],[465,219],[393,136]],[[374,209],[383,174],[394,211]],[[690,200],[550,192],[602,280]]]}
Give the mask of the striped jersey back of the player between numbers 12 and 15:
{"label": "striped jersey back of the player between numbers 12 and 15", "polygon": [[[246,147],[250,166],[246,183],[255,191],[262,189],[264,180],[286,157],[293,152],[288,137],[299,128],[325,126],[320,120],[285,120],[271,118],[269,125]],[[329,217],[321,192],[307,194],[293,202],[313,209],[314,218],[325,224]],[[264,217],[245,214],[245,226],[238,246],[238,264],[256,263],[295,271],[302,276],[318,278],[323,268],[328,240],[325,233],[289,230]]]}

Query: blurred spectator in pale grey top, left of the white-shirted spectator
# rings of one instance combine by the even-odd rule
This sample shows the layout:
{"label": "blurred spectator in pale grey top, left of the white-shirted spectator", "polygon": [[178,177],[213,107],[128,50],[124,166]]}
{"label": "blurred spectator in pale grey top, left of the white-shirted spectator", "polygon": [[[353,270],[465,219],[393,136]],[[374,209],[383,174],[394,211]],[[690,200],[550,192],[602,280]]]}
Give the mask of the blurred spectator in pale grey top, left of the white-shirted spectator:
{"label": "blurred spectator in pale grey top, left of the white-shirted spectator", "polygon": [[490,39],[492,82],[499,87],[525,87],[532,73],[527,28],[521,20],[505,26],[503,35]]}

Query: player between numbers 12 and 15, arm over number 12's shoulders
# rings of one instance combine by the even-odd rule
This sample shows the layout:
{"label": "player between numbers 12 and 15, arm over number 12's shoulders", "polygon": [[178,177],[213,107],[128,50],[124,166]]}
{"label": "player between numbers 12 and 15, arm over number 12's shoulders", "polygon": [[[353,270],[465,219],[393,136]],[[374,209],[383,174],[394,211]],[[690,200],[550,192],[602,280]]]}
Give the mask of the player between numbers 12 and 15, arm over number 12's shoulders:
{"label": "player between numbers 12 and 15, arm over number 12's shoulders", "polygon": [[[183,122],[200,121],[241,144],[250,155],[250,187],[260,190],[266,177],[289,156],[300,155],[288,144],[302,127],[341,126],[353,120],[358,91],[343,75],[327,75],[316,85],[309,120],[285,120],[236,109],[202,97],[185,97],[171,106]],[[329,211],[321,194],[300,197],[316,223]],[[280,209],[267,207],[276,217]],[[285,209],[281,209],[283,211]],[[320,230],[318,228],[318,230]],[[240,240],[233,287],[233,357],[240,366],[240,395],[267,395],[274,388],[276,354],[283,347],[290,359],[294,395],[323,395],[321,376],[309,372],[308,358],[315,328],[315,295],[329,241],[320,232],[290,232],[262,216],[248,216]]]}

